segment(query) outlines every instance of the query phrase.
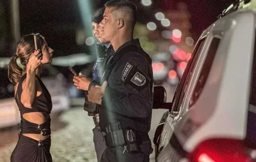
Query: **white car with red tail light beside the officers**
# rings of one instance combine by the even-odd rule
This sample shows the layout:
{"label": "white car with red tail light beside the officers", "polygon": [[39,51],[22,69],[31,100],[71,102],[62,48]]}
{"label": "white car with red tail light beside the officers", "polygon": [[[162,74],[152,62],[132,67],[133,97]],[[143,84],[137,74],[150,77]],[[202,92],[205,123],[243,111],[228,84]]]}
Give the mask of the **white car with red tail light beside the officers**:
{"label": "white car with red tail light beside the officers", "polygon": [[155,133],[157,161],[255,161],[256,13],[240,10],[255,3],[202,33]]}

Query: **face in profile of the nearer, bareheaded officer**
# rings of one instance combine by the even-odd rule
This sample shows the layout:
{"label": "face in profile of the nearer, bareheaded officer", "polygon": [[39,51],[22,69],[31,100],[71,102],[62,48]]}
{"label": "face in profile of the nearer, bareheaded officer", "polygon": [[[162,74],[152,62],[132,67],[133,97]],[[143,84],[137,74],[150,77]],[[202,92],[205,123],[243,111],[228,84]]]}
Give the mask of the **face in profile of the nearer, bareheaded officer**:
{"label": "face in profile of the nearer, bareheaded officer", "polygon": [[116,30],[117,25],[117,21],[113,14],[114,10],[115,8],[113,7],[107,7],[103,14],[103,20],[99,24],[102,29],[102,38],[109,42],[111,42],[115,34],[114,31]]}

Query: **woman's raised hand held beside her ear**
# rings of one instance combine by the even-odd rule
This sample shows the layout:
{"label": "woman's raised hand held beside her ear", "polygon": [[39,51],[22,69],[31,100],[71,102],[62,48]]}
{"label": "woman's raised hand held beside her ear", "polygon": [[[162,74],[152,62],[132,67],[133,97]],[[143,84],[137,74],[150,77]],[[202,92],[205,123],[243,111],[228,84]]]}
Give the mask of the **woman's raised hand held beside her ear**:
{"label": "woman's raised hand held beside her ear", "polygon": [[41,60],[43,59],[43,54],[40,53],[41,50],[35,51],[31,54],[27,62],[27,70],[35,71],[40,65],[42,65]]}

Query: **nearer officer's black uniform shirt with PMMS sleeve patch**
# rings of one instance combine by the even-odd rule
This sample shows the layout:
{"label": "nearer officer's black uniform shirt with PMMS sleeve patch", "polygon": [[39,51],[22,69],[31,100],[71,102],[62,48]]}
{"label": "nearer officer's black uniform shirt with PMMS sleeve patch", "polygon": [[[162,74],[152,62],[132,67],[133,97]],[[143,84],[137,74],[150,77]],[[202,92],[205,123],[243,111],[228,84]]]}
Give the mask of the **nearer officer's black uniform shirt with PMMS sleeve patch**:
{"label": "nearer officer's black uniform shirt with PMMS sleeve patch", "polygon": [[[111,67],[115,58],[118,61]],[[107,63],[105,72],[102,83],[107,80],[108,86],[99,109],[101,130],[120,121],[122,128],[147,133],[152,115],[153,74],[151,59],[139,40],[122,45]]]}

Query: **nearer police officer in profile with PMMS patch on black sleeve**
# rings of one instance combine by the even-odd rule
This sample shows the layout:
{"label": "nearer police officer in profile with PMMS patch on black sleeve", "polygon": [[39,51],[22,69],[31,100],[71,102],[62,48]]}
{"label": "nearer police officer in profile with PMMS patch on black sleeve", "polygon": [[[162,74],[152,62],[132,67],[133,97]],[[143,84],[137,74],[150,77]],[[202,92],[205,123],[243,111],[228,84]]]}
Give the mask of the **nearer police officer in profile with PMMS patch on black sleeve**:
{"label": "nearer police officer in profile with PMMS patch on black sleeve", "polygon": [[88,101],[101,105],[100,128],[107,145],[101,161],[149,161],[153,74],[150,57],[133,39],[136,6],[112,0],[105,7],[102,37],[115,53],[101,87],[88,91]]}

